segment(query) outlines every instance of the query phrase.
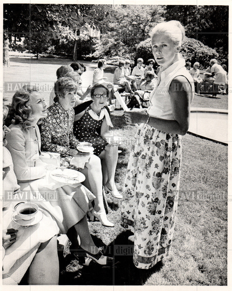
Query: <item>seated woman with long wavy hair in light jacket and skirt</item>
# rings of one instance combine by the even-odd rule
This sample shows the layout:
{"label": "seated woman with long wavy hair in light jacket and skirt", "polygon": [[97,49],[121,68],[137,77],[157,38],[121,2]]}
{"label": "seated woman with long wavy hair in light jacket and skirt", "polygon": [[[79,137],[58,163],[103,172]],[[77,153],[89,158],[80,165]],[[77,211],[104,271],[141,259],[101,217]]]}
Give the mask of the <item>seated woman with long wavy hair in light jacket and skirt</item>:
{"label": "seated woman with long wavy hair in light jacket and skirt", "polygon": [[[37,125],[40,118],[47,116],[47,104],[41,93],[35,88],[17,91],[13,96],[10,115],[12,124],[6,135],[7,148],[11,153],[21,190],[30,191],[28,200],[35,201],[40,208],[51,214],[58,225],[58,233],[67,233],[72,249],[77,249],[79,243],[87,257],[101,265],[109,264],[110,259],[97,249],[88,228],[86,213],[88,203],[94,195],[83,185],[71,186],[53,181],[55,185],[51,188],[51,183],[47,182],[49,172],[47,173],[47,164],[40,160],[41,140]],[[53,197],[57,194],[57,199],[51,200],[51,195],[43,196],[45,193],[54,194]],[[84,256],[80,259],[81,263],[85,263],[83,258]]]}

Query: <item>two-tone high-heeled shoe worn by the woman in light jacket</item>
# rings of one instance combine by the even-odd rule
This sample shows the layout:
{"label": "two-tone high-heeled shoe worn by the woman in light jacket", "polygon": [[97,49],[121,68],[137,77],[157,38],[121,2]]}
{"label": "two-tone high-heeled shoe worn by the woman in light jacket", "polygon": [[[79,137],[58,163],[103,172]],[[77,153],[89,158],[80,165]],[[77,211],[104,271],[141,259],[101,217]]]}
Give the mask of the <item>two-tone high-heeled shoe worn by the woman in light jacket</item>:
{"label": "two-tone high-heeled shoe worn by the woman in light jacket", "polygon": [[[85,256],[97,262],[99,265],[106,265],[112,267],[114,265],[114,258],[104,256],[103,253],[99,250],[97,254],[91,254],[88,251],[82,249],[81,246],[78,247],[78,250],[74,253],[74,256],[79,260],[79,262],[83,262]],[[103,256],[103,258],[102,258]]]}

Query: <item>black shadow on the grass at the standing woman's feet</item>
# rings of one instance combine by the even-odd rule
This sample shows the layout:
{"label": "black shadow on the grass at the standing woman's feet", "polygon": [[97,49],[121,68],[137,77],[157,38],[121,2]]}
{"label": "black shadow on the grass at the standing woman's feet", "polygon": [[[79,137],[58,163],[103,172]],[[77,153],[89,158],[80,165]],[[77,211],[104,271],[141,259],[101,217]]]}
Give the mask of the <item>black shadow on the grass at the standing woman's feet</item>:
{"label": "black shadow on the grass at the standing woman's feet", "polygon": [[[148,270],[138,269],[133,264],[132,253],[117,255],[117,249],[120,250],[122,245],[125,249],[131,249],[133,245],[128,241],[131,234],[128,230],[124,231],[109,246],[105,246],[103,253],[114,255],[114,268],[104,267],[95,262],[91,262],[89,267],[76,265],[74,272],[65,272],[60,276],[59,285],[144,285],[151,274],[160,271],[162,263]],[[96,236],[92,238],[97,246],[104,245]]]}

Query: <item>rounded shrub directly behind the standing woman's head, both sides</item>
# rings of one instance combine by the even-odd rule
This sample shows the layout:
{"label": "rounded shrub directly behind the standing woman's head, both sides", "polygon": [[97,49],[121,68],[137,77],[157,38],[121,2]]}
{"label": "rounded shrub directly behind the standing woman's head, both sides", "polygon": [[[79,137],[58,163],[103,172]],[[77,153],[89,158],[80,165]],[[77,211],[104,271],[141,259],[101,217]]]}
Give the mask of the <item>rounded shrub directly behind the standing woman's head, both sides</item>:
{"label": "rounded shrub directly behind the standing woman's head, both sides", "polygon": [[[192,65],[198,61],[204,68],[209,66],[209,61],[212,58],[218,58],[219,54],[215,49],[204,45],[199,40],[194,38],[185,38],[181,47],[181,54],[185,61],[189,61]],[[138,44],[136,59],[143,58],[144,63],[147,62],[149,58],[154,58],[151,52],[151,38],[141,41]]]}

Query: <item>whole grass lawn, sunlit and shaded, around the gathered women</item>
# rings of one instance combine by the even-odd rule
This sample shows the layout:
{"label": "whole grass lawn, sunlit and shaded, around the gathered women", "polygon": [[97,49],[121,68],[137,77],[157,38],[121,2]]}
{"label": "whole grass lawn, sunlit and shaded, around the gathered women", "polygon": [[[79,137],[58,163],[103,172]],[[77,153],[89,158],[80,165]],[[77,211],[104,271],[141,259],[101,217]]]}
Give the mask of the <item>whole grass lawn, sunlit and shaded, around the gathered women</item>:
{"label": "whole grass lawn, sunlit and shaded, around the gathered women", "polygon": [[[56,69],[71,63],[65,59],[29,60],[12,57],[11,67],[4,69],[5,82],[50,82],[56,80]],[[96,64],[88,65],[83,74],[85,85],[92,81]],[[106,76],[113,78],[113,66],[106,69]],[[46,94],[48,94],[47,92]],[[5,92],[8,103],[12,91]],[[49,95],[48,95],[49,97]],[[228,96],[217,95],[217,99],[198,96],[192,107],[228,108]],[[220,99],[219,99],[220,98]],[[195,103],[194,103],[195,102]],[[129,159],[131,140],[135,127],[126,125],[123,112],[112,114],[113,133],[124,137],[119,149],[116,185],[122,191],[126,167]],[[128,142],[125,142],[128,141]],[[82,267],[76,260],[69,265],[64,262],[63,250],[59,245],[63,285],[227,285],[227,146],[201,139],[190,134],[183,136],[183,161],[179,207],[176,217],[173,243],[165,264],[150,270],[137,269],[131,255],[116,255],[119,262],[115,269]],[[100,222],[90,222],[89,227],[95,244],[103,251],[113,254],[119,245],[132,246],[131,235],[120,226],[121,200],[107,196],[110,206],[108,217],[114,221],[114,228],[101,226]],[[120,247],[120,246],[119,246]],[[68,250],[66,250],[66,253]]]}

